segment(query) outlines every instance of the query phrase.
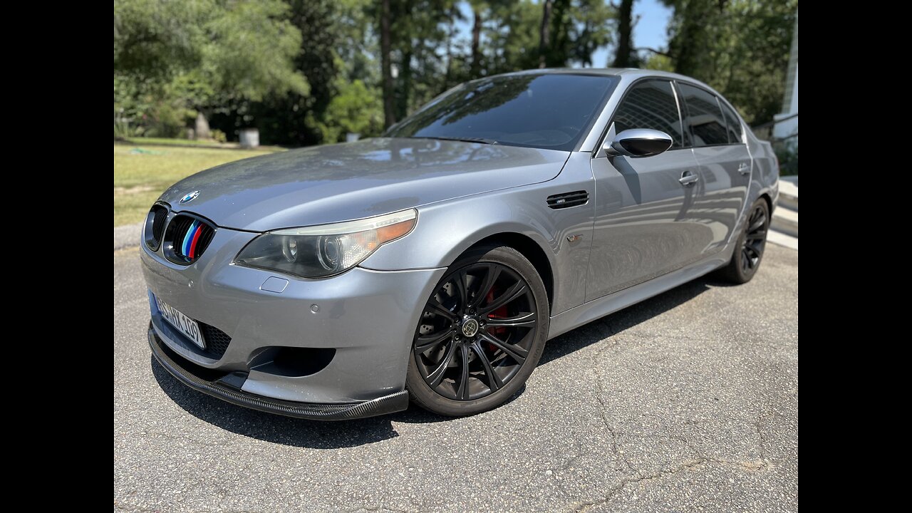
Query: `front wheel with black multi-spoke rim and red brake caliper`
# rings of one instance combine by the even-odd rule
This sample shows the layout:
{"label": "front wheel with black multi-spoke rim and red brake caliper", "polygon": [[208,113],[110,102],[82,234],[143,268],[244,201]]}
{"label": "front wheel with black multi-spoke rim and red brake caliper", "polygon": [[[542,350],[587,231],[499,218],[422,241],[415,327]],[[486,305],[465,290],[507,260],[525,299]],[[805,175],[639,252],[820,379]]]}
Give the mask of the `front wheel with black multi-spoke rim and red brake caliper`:
{"label": "front wheel with black multi-spoke rim and red brake caliper", "polygon": [[509,246],[470,250],[440,279],[412,340],[406,388],[435,414],[495,408],[517,393],[548,335],[542,278]]}

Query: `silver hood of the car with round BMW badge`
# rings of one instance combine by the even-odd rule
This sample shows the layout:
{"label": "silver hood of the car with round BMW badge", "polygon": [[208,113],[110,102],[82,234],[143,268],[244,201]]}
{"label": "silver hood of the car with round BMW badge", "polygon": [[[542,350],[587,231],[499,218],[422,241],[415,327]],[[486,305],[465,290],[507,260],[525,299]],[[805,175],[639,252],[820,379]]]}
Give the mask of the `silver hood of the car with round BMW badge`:
{"label": "silver hood of the car with round BMW badge", "polygon": [[[160,199],[219,226],[264,232],[545,182],[568,156],[475,142],[367,139],[226,163],[171,185]],[[180,203],[194,191],[195,199]]]}

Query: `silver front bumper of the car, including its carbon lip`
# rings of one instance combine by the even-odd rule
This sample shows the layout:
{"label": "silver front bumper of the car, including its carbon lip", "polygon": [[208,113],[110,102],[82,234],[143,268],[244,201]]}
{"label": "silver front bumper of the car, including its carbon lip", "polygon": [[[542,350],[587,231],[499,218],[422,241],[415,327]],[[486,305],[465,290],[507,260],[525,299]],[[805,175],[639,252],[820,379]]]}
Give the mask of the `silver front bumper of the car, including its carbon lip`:
{"label": "silver front bumper of the car, including its carbon lip", "polygon": [[[277,414],[352,418],[404,404],[411,340],[422,306],[445,269],[355,267],[337,277],[298,279],[233,265],[233,257],[254,236],[219,228],[202,257],[187,267],[141,245],[141,268],[150,289],[150,344],[160,361],[161,354],[171,361],[162,365],[204,393]],[[275,279],[285,286],[267,286]],[[151,295],[223,331],[231,337],[227,349],[213,356],[196,348],[161,317]],[[156,352],[156,344],[170,352]],[[316,371],[288,372],[270,361],[273,351],[287,349],[332,356]],[[198,370],[190,373],[198,381],[177,371],[181,368]],[[221,378],[200,377],[213,372],[235,376],[231,385],[236,390],[224,389]],[[327,409],[336,413],[319,414]]]}

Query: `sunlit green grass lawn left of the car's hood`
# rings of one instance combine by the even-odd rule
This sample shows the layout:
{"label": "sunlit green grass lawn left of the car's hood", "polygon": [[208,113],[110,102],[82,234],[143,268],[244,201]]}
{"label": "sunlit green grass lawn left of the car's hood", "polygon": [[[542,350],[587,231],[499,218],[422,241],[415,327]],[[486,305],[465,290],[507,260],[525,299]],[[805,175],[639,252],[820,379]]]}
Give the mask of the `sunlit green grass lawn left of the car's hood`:
{"label": "sunlit green grass lawn left of the car's hood", "polygon": [[114,225],[139,223],[172,183],[225,162],[273,150],[114,145]]}

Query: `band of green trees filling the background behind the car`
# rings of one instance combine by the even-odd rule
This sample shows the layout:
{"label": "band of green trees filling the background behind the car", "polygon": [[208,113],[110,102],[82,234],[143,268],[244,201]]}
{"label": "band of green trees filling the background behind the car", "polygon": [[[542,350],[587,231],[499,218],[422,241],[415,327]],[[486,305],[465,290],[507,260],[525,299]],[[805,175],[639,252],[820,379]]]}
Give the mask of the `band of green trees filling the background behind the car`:
{"label": "band of green trees filling the background behind the car", "polygon": [[115,0],[115,128],[174,136],[203,112],[231,139],[344,141],[463,81],[589,67],[605,47],[617,66],[692,75],[748,120],[772,118],[796,0],[663,2],[668,48],[647,54],[634,0]]}

